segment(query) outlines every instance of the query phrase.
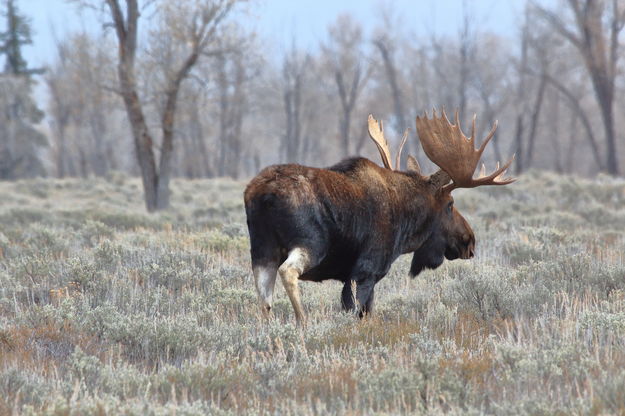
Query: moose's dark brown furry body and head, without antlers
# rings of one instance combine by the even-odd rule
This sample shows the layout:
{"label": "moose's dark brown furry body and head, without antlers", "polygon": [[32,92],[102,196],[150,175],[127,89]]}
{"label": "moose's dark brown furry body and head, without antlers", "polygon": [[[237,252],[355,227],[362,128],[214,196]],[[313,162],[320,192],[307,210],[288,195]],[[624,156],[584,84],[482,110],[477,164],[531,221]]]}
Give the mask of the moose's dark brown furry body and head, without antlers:
{"label": "moose's dark brown furry body and head, without antlers", "polygon": [[375,283],[399,255],[414,252],[413,276],[445,257],[472,257],[471,227],[443,190],[449,180],[442,171],[424,177],[364,158],[327,169],[264,169],[245,190],[245,209],[261,297],[267,288],[260,287],[256,271],[274,274],[273,280],[264,278],[271,280],[265,308],[271,308],[275,272],[295,248],[306,253],[299,279],[344,282],[343,307],[354,309],[357,300],[361,315],[371,310]]}

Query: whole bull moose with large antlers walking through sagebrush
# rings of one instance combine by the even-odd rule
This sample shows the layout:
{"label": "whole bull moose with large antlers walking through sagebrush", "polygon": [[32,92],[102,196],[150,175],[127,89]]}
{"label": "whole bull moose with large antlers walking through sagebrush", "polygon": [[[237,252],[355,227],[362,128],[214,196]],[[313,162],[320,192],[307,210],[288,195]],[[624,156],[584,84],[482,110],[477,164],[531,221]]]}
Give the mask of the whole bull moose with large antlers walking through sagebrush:
{"label": "whole bull moose with large antlers walking through sagebrush", "polygon": [[[469,259],[475,236],[454,207],[456,188],[507,185],[504,178],[514,156],[486,176],[473,178],[497,122],[479,149],[460,128],[458,112],[451,123],[442,111],[417,117],[425,154],[440,169],[424,176],[413,157],[407,171],[394,170],[380,123],[369,116],[369,135],[384,168],[356,157],[326,169],[297,164],[273,165],[245,189],[256,290],[269,314],[277,274],[291,300],[298,325],[305,323],[298,281],[336,279],[344,283],[341,303],[362,317],[372,311],[374,286],[401,254],[414,253],[410,274],[440,266],[445,258]],[[403,143],[406,140],[404,134]],[[399,168],[401,147],[397,155]],[[355,287],[355,288],[354,288]]]}

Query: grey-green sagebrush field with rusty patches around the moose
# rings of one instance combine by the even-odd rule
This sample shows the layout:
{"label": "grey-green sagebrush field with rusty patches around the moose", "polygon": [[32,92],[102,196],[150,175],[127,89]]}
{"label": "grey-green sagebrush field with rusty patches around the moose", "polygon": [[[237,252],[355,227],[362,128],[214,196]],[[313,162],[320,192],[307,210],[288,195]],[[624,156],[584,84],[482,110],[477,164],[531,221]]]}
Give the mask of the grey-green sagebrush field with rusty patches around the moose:
{"label": "grey-green sagebrush field with rusty patches around the moose", "polygon": [[625,181],[533,173],[456,192],[477,257],[376,315],[302,283],[256,304],[244,184],[0,183],[0,415],[625,414]]}

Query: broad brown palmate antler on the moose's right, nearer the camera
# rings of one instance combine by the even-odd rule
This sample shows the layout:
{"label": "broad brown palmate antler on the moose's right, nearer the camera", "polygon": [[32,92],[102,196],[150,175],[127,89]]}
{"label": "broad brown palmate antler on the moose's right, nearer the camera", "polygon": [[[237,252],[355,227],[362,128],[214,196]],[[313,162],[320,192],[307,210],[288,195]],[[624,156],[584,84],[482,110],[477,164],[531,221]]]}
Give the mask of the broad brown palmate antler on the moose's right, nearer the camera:
{"label": "broad brown palmate antler on the moose's right, nearer the camera", "polygon": [[458,111],[456,110],[455,124],[449,121],[444,109],[442,113],[441,117],[437,117],[436,110],[434,110],[431,119],[428,118],[427,113],[423,117],[417,116],[417,132],[425,154],[451,178],[452,183],[445,186],[446,190],[475,188],[482,185],[507,185],[516,180],[503,177],[514,160],[514,156],[502,167],[499,167],[499,162],[497,162],[495,171],[488,176],[485,175],[485,168],[482,165],[480,176],[473,178],[473,173],[486,145],[495,135],[496,121],[480,148],[475,149],[476,116],[473,116],[471,137],[467,138],[460,129]]}

